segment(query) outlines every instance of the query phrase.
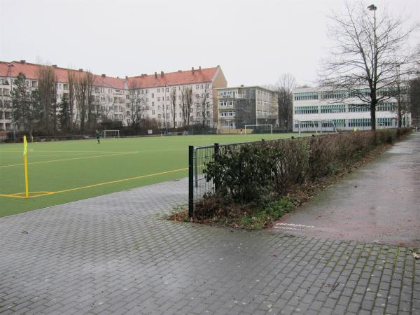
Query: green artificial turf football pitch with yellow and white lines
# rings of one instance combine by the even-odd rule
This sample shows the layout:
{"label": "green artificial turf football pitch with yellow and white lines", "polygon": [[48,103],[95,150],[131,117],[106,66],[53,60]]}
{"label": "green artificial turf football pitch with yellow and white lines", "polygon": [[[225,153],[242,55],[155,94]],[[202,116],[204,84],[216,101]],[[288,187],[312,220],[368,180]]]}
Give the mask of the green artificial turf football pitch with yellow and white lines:
{"label": "green artificial turf football pitch with yellow and white lines", "polygon": [[[188,145],[290,138],[292,134],[144,137],[0,145],[0,216],[188,176]],[[295,134],[295,136],[297,136]]]}

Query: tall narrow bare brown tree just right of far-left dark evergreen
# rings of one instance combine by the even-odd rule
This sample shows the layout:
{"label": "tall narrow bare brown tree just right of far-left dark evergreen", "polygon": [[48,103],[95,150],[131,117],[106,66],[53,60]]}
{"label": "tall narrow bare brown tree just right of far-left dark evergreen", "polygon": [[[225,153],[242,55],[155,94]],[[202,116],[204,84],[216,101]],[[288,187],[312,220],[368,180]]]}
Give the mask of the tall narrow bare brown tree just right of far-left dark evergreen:
{"label": "tall narrow bare brown tree just right of far-left dark evergreen", "polygon": [[43,107],[43,125],[48,132],[57,132],[57,80],[52,66],[38,67],[38,97]]}

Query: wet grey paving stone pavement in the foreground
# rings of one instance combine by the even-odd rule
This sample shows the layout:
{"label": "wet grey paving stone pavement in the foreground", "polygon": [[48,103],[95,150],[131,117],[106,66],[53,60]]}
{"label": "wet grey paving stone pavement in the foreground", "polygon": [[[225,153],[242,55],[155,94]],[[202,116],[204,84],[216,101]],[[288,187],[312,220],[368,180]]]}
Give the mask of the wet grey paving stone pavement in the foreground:
{"label": "wet grey paving stone pavement in the foreground", "polygon": [[420,314],[410,248],[162,220],[187,180],[0,218],[2,314]]}

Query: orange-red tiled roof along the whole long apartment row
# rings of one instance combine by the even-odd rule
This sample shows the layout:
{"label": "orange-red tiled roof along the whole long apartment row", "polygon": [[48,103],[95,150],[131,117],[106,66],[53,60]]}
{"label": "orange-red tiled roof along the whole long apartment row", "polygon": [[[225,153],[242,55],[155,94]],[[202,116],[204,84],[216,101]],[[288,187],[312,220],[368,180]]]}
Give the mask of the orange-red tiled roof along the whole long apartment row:
{"label": "orange-red tiled roof along the whole long apartment row", "polygon": [[[8,66],[8,64],[13,64],[13,66]],[[0,76],[7,77],[10,76],[9,69],[11,71],[11,76],[16,77],[18,73],[22,72],[30,80],[36,80],[38,78],[38,69],[39,64],[31,64],[28,62],[0,62]],[[67,82],[67,73],[71,71],[74,73],[74,76],[78,78],[85,71],[78,71],[73,69],[59,68],[55,67],[55,76],[57,81],[60,83]],[[160,86],[171,86],[171,85],[184,85],[184,84],[196,84],[196,83],[209,83],[214,78],[216,74],[217,67],[206,68],[206,69],[195,69],[188,71],[177,71],[164,73],[163,76],[161,73],[158,73],[156,76],[154,74],[147,74],[144,76],[134,76],[127,79],[127,86],[134,86],[138,88],[145,87],[160,87]],[[113,78],[111,76],[100,76],[94,75],[94,85],[100,87],[112,87],[116,89],[125,88],[125,79],[123,78]]]}

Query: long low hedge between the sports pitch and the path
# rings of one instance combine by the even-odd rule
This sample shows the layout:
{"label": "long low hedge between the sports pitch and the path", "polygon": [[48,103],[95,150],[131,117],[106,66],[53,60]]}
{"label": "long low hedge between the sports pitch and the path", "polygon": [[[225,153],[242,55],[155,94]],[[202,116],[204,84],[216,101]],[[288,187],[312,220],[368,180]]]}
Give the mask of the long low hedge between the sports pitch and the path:
{"label": "long low hedge between the sports pitch and the path", "polygon": [[214,181],[219,197],[241,204],[255,202],[328,176],[372,148],[392,143],[408,132],[409,128],[346,132],[223,146],[218,157],[205,165],[204,174],[207,181]]}

